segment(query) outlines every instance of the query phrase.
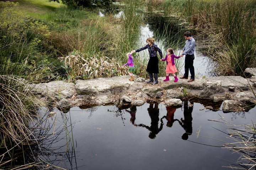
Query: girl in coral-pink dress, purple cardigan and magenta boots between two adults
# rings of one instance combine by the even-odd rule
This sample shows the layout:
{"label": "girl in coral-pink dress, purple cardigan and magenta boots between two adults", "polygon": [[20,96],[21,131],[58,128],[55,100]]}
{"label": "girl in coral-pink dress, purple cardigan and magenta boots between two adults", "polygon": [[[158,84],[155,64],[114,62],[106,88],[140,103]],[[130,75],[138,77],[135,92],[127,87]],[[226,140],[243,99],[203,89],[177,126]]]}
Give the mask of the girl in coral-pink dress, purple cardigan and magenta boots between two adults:
{"label": "girl in coral-pink dress, purple cardigan and magenta boots between two adults", "polygon": [[164,59],[160,59],[160,61],[166,61],[166,69],[165,69],[165,73],[166,73],[166,78],[164,79],[164,81],[169,81],[169,75],[172,74],[174,76],[174,82],[178,81],[177,76],[175,75],[175,73],[177,72],[175,63],[174,63],[174,58],[180,58],[181,56],[175,56],[174,52],[172,50],[172,48],[169,48],[166,50],[166,56]]}

